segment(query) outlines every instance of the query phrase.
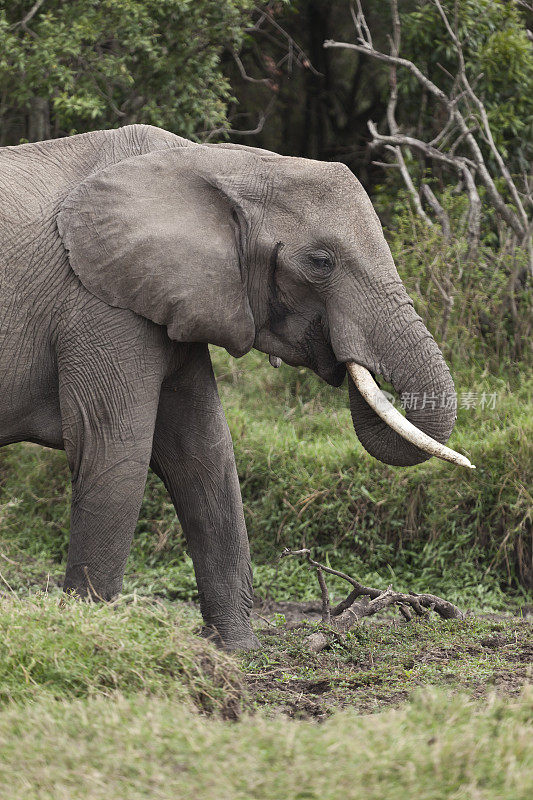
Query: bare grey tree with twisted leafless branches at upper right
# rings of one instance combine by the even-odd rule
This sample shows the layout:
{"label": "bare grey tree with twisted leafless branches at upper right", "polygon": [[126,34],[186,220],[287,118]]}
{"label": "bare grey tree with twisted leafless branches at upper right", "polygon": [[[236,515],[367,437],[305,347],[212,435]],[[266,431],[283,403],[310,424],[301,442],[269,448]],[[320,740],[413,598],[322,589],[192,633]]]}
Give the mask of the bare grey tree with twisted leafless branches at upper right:
{"label": "bare grey tree with twisted leafless branches at upper right", "polygon": [[[481,198],[478,187],[483,186],[487,201],[493,207],[498,219],[511,229],[515,242],[527,251],[530,270],[533,274],[533,222],[531,219],[533,198],[530,176],[521,176],[524,185],[519,191],[515,178],[507,168],[494,141],[485,106],[474,89],[476,81],[470,81],[468,78],[463,45],[457,31],[450,23],[440,0],[431,0],[431,2],[443,20],[450,45],[457,58],[457,73],[452,88],[448,92],[430,80],[416,64],[400,56],[401,23],[397,0],[390,1],[392,34],[389,36],[389,53],[382,52],[374,46],[361,0],[356,0],[357,10],[352,9],[357,43],[328,40],[324,42],[324,47],[354,50],[390,65],[388,132],[380,133],[377,125],[370,121],[368,128],[372,136],[371,146],[376,149],[384,149],[394,156],[393,164],[399,169],[413,200],[414,208],[425,223],[432,225],[433,221],[424,210],[422,198],[440,222],[445,237],[450,234],[450,221],[429,185],[421,179],[418,188],[415,186],[405,163],[404,151],[406,149],[443,165],[445,169],[454,171],[459,176],[469,202],[468,244],[471,259],[475,257],[479,245]],[[446,111],[446,121],[440,132],[431,141],[425,141],[418,136],[402,132],[396,121],[398,100],[396,74],[399,68],[408,70],[417,79],[424,92],[436,98]],[[492,155],[491,163],[488,163],[483,156],[485,148],[488,148]],[[375,163],[385,166],[382,162]],[[391,164],[389,163],[388,166]],[[497,188],[497,183],[505,185],[505,196]],[[512,205],[506,202],[507,198],[510,199]]]}

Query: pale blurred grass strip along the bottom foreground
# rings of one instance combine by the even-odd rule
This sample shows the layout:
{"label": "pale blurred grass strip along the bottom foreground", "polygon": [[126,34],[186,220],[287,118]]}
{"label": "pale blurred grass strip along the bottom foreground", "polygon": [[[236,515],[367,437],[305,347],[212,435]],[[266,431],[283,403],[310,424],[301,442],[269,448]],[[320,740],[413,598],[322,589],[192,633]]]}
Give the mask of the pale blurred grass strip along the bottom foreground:
{"label": "pale blurred grass strip along the bottom foreground", "polygon": [[0,713],[10,800],[529,800],[532,697],[419,694],[401,710],[316,726],[237,725],[167,698],[38,702]]}

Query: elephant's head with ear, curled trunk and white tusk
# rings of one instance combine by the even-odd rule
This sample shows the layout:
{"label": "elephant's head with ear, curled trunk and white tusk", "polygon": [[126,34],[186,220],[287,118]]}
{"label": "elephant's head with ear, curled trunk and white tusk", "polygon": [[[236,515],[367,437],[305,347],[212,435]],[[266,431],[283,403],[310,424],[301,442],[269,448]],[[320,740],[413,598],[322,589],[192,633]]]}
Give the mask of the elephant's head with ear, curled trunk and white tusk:
{"label": "elephant's head with ear, curled trunk and white tusk", "polygon": [[[105,302],[177,341],[236,356],[253,346],[334,386],[348,366],[371,455],[469,465],[443,447],[455,421],[448,367],[344,165],[231,145],[158,151],[80,184],[58,227],[74,271]],[[376,399],[369,373],[412,399],[408,420]]]}

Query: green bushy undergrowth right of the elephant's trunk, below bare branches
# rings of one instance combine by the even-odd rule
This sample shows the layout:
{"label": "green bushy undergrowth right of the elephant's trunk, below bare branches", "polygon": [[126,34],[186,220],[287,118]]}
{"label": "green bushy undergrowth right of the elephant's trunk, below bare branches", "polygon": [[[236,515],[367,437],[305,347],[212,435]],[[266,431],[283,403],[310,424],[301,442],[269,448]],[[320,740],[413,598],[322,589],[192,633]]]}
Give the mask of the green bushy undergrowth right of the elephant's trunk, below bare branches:
{"label": "green bushy undergrowth right of the elephant's trunk, below bare branches", "polygon": [[450,241],[436,221],[429,228],[412,211],[408,193],[395,181],[377,186],[373,201],[402,280],[456,379],[470,382],[476,371],[513,376],[527,368],[533,299],[527,253],[505,236],[499,244],[491,209],[483,208],[480,246],[472,262],[464,194],[440,193]]}

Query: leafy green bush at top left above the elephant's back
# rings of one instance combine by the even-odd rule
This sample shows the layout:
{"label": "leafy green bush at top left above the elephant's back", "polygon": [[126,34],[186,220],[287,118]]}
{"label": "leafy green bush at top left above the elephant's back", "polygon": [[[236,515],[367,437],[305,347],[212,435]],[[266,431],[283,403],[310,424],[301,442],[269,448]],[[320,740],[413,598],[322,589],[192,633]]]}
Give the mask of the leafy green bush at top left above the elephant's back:
{"label": "leafy green bush at top left above the elephant's back", "polygon": [[250,0],[47,0],[22,26],[31,6],[0,0],[0,143],[28,135],[36,98],[51,136],[144,122],[194,138],[225,126],[220,54],[238,46]]}

